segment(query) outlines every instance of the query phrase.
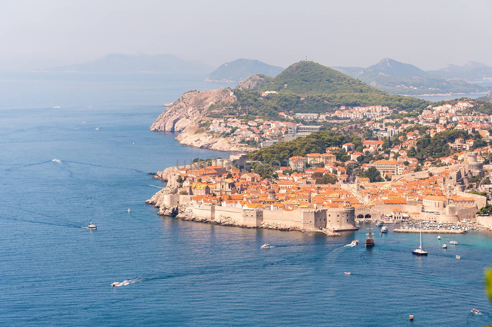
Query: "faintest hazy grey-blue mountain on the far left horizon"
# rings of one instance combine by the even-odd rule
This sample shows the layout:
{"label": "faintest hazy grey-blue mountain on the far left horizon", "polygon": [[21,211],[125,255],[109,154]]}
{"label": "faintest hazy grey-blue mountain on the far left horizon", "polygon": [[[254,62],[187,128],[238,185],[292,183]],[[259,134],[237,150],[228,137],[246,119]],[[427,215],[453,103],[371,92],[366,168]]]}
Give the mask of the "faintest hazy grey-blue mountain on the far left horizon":
{"label": "faintest hazy grey-blue mountain on the far left horizon", "polygon": [[186,61],[171,54],[123,55],[113,53],[92,62],[52,67],[47,70],[51,72],[192,72],[205,74],[207,71],[210,71],[210,66]]}

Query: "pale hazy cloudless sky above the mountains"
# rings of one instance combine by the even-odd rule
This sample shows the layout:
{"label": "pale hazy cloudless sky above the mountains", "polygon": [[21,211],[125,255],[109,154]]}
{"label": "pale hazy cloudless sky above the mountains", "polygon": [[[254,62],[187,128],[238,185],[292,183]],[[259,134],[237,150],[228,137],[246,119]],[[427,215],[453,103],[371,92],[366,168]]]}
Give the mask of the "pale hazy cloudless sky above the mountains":
{"label": "pale hazy cloudless sky above the mountains", "polygon": [[0,0],[0,70],[172,53],[220,65],[492,65],[489,0]]}

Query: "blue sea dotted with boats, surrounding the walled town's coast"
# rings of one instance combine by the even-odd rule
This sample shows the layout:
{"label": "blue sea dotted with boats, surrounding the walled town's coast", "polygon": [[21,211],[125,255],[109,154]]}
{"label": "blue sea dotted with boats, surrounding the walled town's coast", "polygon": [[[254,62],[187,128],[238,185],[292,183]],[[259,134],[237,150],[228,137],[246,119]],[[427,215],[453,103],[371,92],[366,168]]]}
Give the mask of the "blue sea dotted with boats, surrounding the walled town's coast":
{"label": "blue sea dotted with boats, surrounding the walled town's coast", "polygon": [[[366,249],[368,224],[329,237],[156,215],[145,200],[164,183],[148,172],[229,153],[183,147],[149,127],[163,103],[219,86],[228,85],[0,78],[0,326],[492,323],[483,284],[490,232],[424,234],[429,256],[416,257],[418,234],[391,225]],[[347,246],[353,239],[361,244]],[[442,249],[450,240],[459,244]]]}

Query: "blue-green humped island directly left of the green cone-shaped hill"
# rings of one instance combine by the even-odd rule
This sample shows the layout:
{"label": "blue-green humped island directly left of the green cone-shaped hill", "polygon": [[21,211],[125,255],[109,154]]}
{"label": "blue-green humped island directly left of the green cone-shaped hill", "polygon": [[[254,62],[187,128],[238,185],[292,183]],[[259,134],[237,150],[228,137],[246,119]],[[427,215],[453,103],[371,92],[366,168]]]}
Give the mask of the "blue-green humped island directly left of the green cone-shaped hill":
{"label": "blue-green humped island directly left of the green cone-shaped hill", "polygon": [[218,66],[207,76],[205,82],[241,82],[254,74],[274,77],[283,70],[282,67],[268,65],[253,59],[237,59]]}

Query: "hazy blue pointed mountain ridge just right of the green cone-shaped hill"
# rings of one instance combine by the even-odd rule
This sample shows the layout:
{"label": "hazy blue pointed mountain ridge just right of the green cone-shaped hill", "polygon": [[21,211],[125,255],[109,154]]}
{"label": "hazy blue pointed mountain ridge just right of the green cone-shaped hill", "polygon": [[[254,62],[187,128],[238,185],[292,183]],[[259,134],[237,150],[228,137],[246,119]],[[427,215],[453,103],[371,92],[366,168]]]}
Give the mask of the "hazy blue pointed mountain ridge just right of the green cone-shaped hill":
{"label": "hazy blue pointed mountain ridge just right of the green cone-shaped hill", "polygon": [[385,58],[379,63],[362,67],[333,67],[349,76],[391,94],[467,94],[487,92],[477,84],[460,78],[446,78],[410,64]]}

